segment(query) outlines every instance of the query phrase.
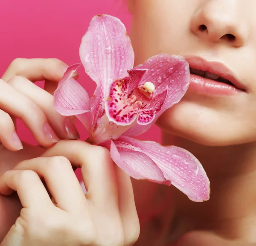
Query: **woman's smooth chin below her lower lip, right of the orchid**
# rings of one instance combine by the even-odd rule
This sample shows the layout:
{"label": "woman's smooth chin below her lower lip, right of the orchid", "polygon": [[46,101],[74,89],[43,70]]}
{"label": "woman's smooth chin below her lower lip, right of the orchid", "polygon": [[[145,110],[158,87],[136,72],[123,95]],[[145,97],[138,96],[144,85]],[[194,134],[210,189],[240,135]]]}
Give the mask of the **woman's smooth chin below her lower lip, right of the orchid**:
{"label": "woman's smooth chin below her lower lip, right of the orchid", "polygon": [[188,101],[180,101],[166,110],[156,124],[163,132],[201,145],[228,146],[256,142],[255,124],[247,123],[246,127],[240,117],[234,119],[231,113]]}

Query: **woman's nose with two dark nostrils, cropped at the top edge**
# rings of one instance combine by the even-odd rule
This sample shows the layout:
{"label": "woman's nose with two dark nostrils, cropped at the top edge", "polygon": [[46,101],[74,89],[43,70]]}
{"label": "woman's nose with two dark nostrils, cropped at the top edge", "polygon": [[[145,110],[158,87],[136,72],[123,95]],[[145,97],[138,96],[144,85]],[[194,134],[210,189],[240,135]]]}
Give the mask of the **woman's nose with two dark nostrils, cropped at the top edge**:
{"label": "woman's nose with two dark nostrils, cropped at the top edge", "polygon": [[204,0],[191,20],[198,38],[240,47],[247,41],[248,25],[236,0]]}

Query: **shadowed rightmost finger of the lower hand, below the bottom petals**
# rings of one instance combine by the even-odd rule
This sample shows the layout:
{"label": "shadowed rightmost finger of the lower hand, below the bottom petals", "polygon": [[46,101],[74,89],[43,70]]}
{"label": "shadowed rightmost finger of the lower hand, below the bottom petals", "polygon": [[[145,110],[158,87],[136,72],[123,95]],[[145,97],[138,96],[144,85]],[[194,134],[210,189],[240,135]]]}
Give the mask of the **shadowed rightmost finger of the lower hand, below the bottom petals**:
{"label": "shadowed rightmost finger of the lower hand, below the bottom petals", "polygon": [[131,178],[122,169],[115,165],[119,211],[124,232],[124,245],[131,246],[137,241],[140,235],[140,221],[134,201]]}

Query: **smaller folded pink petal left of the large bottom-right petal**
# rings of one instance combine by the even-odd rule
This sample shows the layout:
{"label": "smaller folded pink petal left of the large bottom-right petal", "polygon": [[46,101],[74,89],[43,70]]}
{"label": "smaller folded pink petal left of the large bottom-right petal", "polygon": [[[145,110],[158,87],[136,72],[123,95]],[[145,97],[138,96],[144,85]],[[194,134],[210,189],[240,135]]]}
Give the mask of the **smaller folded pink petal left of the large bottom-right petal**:
{"label": "smaller folded pink petal left of the large bottom-right petal", "polygon": [[[117,141],[118,142],[118,141]],[[135,179],[147,179],[157,183],[171,185],[167,181],[160,168],[144,153],[127,150],[125,148],[117,148],[116,141],[107,141],[102,146],[108,148],[111,153],[111,158],[122,170]]]}

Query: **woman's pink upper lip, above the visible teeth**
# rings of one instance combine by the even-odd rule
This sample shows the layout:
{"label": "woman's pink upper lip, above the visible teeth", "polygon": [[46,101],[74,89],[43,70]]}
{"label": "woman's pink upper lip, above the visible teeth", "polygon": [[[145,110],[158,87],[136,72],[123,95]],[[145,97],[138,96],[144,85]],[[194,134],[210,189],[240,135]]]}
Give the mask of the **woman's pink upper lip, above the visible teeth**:
{"label": "woman's pink upper lip, above the visible teeth", "polygon": [[185,59],[188,61],[190,68],[217,74],[230,81],[238,89],[245,90],[244,85],[236,79],[233,72],[223,63],[218,61],[207,61],[199,56],[185,56]]}

